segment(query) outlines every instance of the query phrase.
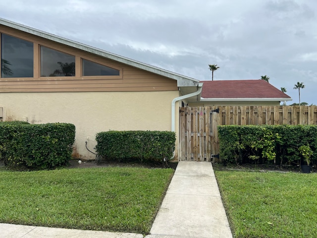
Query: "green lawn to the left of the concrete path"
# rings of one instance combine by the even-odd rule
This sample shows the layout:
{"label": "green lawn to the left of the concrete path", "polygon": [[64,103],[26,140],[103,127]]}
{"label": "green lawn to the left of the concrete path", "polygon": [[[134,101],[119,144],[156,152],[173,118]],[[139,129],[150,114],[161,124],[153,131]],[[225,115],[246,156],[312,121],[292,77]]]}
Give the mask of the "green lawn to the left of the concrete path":
{"label": "green lawn to the left of the concrete path", "polygon": [[148,234],[172,169],[0,172],[0,223]]}

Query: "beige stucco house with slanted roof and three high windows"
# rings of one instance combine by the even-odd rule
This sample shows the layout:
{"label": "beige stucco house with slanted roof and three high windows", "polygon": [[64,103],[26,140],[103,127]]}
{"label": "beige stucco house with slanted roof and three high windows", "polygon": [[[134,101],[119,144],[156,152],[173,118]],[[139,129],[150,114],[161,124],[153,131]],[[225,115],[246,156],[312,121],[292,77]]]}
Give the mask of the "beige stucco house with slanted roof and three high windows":
{"label": "beige stucco house with slanted roof and three high windows", "polygon": [[75,158],[95,159],[101,131],[178,136],[182,100],[201,96],[197,79],[1,18],[0,35],[0,120],[73,123]]}

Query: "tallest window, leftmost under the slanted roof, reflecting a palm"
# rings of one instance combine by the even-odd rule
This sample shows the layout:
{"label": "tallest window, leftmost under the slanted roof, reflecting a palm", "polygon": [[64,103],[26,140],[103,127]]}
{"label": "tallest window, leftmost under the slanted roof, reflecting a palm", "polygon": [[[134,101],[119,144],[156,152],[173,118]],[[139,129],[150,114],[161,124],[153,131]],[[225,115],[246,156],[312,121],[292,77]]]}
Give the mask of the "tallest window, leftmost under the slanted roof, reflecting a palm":
{"label": "tallest window, leftmost under the slanted roof, reflecting a palm", "polygon": [[33,77],[33,43],[1,34],[1,78]]}

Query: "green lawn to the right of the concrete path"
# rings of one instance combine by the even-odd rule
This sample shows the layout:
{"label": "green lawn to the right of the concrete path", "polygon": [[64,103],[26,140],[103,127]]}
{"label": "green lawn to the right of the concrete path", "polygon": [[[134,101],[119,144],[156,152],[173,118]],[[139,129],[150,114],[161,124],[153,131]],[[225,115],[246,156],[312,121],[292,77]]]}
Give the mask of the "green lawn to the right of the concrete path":
{"label": "green lawn to the right of the concrete path", "polygon": [[317,237],[317,174],[214,173],[235,238]]}

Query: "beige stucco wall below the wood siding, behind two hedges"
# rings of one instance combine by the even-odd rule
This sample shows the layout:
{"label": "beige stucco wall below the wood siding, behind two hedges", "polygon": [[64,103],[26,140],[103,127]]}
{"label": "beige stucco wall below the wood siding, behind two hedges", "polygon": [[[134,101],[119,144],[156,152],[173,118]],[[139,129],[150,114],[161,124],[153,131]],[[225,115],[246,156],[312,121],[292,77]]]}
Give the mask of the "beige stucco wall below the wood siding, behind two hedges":
{"label": "beige stucco wall below the wood siding, behind two hedges", "polygon": [[[0,93],[0,107],[3,107],[3,121],[27,119],[33,124],[75,124],[76,157],[91,160],[95,155],[86,149],[85,141],[88,138],[88,148],[95,151],[98,132],[171,130],[171,102],[178,96],[178,91]],[[178,103],[175,108],[178,138]],[[178,148],[176,158],[177,151]]]}

